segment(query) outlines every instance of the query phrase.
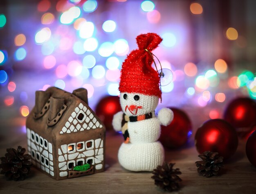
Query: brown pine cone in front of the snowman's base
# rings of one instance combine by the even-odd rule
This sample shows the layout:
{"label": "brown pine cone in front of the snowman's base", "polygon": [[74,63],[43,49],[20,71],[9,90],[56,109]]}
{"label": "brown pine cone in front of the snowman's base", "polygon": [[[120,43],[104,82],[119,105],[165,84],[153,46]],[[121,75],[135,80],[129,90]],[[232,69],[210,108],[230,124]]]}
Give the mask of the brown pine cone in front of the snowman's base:
{"label": "brown pine cone in front of the snowman's base", "polygon": [[162,166],[157,166],[157,169],[154,169],[151,178],[155,179],[155,185],[160,187],[163,190],[168,192],[178,190],[180,185],[178,182],[182,181],[177,174],[181,174],[180,169],[173,169],[175,163],[166,163]]}

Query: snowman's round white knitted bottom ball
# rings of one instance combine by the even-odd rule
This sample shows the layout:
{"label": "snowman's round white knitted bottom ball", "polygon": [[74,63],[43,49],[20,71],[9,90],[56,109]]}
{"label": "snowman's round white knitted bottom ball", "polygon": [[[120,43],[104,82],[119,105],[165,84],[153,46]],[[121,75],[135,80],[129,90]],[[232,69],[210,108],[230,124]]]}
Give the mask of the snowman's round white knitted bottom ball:
{"label": "snowman's round white knitted bottom ball", "polygon": [[164,162],[164,148],[161,143],[122,143],[118,151],[122,167],[131,171],[153,171]]}

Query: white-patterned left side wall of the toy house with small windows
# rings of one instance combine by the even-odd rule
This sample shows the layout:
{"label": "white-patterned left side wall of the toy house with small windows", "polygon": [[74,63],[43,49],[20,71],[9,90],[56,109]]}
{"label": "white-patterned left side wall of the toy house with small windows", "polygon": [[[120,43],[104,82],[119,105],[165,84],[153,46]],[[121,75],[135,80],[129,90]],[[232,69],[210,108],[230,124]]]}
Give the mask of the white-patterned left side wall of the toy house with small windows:
{"label": "white-patterned left side wall of the toy house with small windows", "polygon": [[27,146],[33,165],[54,176],[52,143],[27,128]]}

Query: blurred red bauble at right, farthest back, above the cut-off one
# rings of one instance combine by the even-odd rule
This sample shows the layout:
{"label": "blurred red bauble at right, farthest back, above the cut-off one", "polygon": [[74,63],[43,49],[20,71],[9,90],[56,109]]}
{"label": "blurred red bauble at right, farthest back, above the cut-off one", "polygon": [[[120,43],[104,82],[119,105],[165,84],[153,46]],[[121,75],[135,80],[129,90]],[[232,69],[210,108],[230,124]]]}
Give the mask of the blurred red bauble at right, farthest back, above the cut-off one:
{"label": "blurred red bauble at right, farthest back, above the cut-off one", "polygon": [[256,103],[250,98],[236,98],[229,103],[224,119],[234,127],[250,127],[256,123]]}

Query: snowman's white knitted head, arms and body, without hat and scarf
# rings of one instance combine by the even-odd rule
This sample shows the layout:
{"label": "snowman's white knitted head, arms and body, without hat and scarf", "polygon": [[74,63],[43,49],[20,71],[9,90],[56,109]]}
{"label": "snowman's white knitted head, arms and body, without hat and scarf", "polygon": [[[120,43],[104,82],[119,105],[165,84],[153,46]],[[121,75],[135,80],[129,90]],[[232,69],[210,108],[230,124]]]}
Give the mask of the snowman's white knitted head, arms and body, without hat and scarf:
{"label": "snowman's white knitted head, arms and body, without hat and scarf", "polygon": [[[124,95],[126,94],[125,98]],[[135,100],[135,95],[139,100]],[[171,123],[172,111],[161,111],[161,118],[155,117],[155,108],[159,98],[138,93],[121,93],[120,104],[128,116],[139,116],[153,113],[153,118],[128,122],[130,142],[119,148],[119,163],[131,171],[153,171],[164,162],[164,148],[157,140],[160,136],[160,125]],[[131,108],[133,107],[133,108]],[[122,112],[115,114],[112,125],[116,131],[121,130]]]}

